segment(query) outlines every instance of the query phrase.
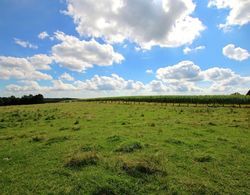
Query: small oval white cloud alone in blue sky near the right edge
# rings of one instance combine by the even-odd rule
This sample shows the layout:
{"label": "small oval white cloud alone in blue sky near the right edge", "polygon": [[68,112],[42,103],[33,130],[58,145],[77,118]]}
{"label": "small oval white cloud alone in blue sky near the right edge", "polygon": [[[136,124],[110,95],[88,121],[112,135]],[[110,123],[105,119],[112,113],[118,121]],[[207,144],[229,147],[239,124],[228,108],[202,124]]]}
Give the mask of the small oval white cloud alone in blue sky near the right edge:
{"label": "small oval white cloud alone in blue sky near the right edge", "polygon": [[243,61],[250,58],[250,53],[246,49],[236,47],[233,44],[225,46],[223,48],[223,54],[224,56],[237,61]]}

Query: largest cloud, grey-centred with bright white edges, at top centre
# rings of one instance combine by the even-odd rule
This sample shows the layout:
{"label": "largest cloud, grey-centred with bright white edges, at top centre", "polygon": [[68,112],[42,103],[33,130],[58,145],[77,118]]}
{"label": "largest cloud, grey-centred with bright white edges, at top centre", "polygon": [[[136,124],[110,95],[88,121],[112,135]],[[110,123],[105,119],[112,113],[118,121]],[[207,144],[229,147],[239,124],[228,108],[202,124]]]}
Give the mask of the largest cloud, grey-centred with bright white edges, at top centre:
{"label": "largest cloud, grey-centred with bright white edges, at top centre", "polygon": [[192,43],[205,26],[192,17],[192,0],[68,0],[64,13],[73,17],[82,36],[111,43],[125,39],[143,49]]}

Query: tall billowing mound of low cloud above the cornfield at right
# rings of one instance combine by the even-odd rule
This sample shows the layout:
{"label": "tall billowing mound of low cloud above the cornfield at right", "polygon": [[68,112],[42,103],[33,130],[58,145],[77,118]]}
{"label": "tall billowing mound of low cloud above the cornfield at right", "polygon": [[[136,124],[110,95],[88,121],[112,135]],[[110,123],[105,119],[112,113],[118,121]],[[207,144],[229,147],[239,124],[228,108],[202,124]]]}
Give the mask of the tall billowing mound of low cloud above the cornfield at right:
{"label": "tall billowing mound of low cloud above the cornfield at right", "polygon": [[[250,77],[236,74],[229,68],[213,67],[201,70],[192,61],[182,61],[176,65],[160,68],[157,70],[156,86],[152,90],[163,90],[171,92],[234,92],[243,87],[250,87]],[[198,86],[199,83],[209,82],[206,89]]]}

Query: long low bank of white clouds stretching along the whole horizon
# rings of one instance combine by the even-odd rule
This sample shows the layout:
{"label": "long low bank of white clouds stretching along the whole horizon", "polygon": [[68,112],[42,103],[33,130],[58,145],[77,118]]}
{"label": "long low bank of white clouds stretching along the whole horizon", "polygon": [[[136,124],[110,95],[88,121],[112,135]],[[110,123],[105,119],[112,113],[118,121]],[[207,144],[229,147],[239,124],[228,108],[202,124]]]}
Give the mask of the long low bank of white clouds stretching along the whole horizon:
{"label": "long low bank of white clouds stretching along the whole horizon", "polygon": [[[66,75],[66,76],[65,76]],[[9,92],[36,91],[56,94],[65,92],[65,96],[85,94],[96,96],[128,95],[128,94],[230,94],[235,91],[243,92],[250,87],[250,77],[241,76],[229,68],[213,67],[202,70],[192,61],[182,61],[176,65],[160,68],[156,78],[149,83],[126,80],[117,74],[110,76],[95,75],[87,80],[74,80],[65,83],[69,75],[63,74],[58,80],[51,80],[51,85],[40,86],[37,82],[22,82],[9,85]],[[65,78],[64,78],[65,77]],[[204,86],[206,86],[204,88]],[[70,91],[70,93],[68,93]],[[70,95],[69,95],[70,94]]]}

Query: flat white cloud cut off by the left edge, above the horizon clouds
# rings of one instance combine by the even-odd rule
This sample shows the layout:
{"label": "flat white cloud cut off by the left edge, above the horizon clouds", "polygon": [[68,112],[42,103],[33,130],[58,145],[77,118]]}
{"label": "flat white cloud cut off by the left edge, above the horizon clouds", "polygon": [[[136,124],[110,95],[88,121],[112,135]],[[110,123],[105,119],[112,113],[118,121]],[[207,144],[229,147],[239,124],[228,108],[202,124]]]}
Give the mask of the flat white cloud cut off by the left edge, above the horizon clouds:
{"label": "flat white cloud cut off by the left edge, above the horizon clouds", "polygon": [[48,56],[35,55],[30,58],[0,56],[0,79],[51,80],[52,77],[38,70],[49,69]]}

